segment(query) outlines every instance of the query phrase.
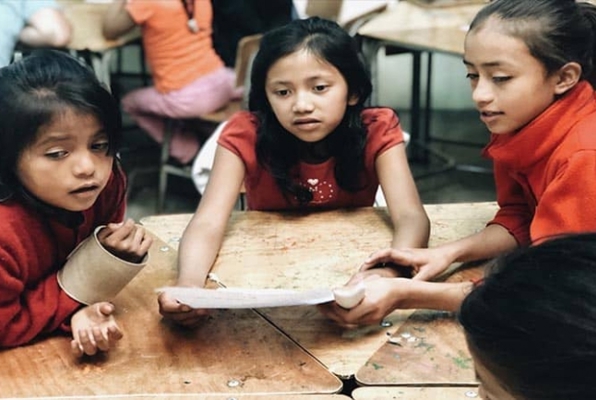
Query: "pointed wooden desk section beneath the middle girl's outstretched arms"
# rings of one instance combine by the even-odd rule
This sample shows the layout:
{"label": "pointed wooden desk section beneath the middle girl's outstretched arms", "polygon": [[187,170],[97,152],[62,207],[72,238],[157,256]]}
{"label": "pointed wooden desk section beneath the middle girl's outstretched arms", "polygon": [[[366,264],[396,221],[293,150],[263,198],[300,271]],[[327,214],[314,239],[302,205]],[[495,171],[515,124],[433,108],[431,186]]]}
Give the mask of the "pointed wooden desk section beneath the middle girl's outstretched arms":
{"label": "pointed wooden desk section beneath the middle girl's outstretched arms", "polygon": [[[495,203],[425,206],[431,245],[482,229]],[[177,247],[190,214],[153,216],[141,222]],[[311,214],[234,212],[213,271],[228,287],[311,289],[339,286],[373,251],[389,246],[386,209],[362,208]],[[259,309],[274,325],[342,378],[352,377],[407,322],[412,310],[396,311],[387,326],[345,330],[315,307]]]}

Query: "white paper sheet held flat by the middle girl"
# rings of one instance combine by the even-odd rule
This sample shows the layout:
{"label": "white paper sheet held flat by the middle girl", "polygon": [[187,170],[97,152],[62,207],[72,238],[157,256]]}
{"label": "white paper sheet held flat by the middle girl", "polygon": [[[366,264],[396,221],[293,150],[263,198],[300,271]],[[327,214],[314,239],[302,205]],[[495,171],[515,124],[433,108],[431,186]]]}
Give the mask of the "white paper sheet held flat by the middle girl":
{"label": "white paper sheet held flat by the middle girl", "polygon": [[244,288],[187,288],[163,287],[165,292],[182,304],[192,308],[261,308],[314,305],[333,301],[331,289],[305,291],[286,289]]}

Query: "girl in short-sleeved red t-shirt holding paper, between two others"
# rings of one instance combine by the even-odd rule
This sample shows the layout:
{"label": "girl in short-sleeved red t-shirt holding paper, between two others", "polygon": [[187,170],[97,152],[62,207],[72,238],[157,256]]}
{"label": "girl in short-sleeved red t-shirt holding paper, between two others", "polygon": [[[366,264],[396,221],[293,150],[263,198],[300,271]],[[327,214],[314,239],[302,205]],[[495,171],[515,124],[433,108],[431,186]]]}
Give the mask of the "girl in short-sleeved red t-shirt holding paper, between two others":
{"label": "girl in short-sleeved red t-shirt holding paper, between two others", "polygon": [[[399,120],[391,109],[364,108],[371,89],[353,38],[336,23],[295,20],[264,35],[252,66],[250,112],[236,114],[221,133],[180,243],[177,285],[205,285],[242,184],[251,210],[322,210],[372,206],[380,183],[391,245],[427,245],[429,221]],[[206,313],[166,293],[159,302],[166,318],[184,325]]]}

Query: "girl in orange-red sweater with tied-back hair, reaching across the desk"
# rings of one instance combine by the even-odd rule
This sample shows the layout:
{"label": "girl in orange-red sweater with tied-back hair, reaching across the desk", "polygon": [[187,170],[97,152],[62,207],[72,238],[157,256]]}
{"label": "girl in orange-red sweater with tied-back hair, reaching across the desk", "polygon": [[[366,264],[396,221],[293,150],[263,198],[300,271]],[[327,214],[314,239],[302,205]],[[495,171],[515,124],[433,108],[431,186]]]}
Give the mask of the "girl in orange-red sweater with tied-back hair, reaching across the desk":
{"label": "girl in orange-red sweater with tied-back hair, reaching across the desk", "polygon": [[[464,64],[472,98],[491,132],[499,211],[480,232],[432,249],[372,255],[374,267],[411,266],[415,277],[367,281],[342,323],[374,323],[396,308],[456,310],[471,283],[425,282],[454,262],[483,260],[552,236],[596,231],[596,7],[573,0],[495,0],[474,18]],[[563,267],[563,266],[562,266]]]}

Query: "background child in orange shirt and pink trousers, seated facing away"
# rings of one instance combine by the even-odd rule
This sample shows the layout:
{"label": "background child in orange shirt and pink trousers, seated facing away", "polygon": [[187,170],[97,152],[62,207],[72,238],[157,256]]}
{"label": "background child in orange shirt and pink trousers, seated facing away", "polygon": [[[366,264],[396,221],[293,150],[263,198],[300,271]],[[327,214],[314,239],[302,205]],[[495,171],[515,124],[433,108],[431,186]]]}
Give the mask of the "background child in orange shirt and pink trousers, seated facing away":
{"label": "background child in orange shirt and pink trousers, seated facing away", "polygon": [[[234,71],[213,49],[211,23],[211,2],[205,0],[115,0],[104,17],[108,39],[141,27],[154,86],[128,93],[122,107],[159,143],[165,118],[199,117],[242,97]],[[179,128],[170,154],[187,164],[199,151],[199,136]]]}

